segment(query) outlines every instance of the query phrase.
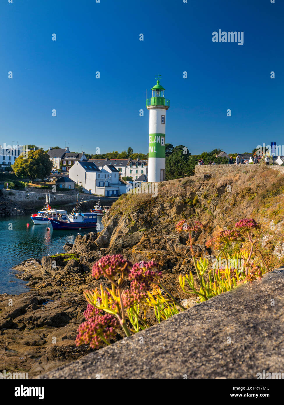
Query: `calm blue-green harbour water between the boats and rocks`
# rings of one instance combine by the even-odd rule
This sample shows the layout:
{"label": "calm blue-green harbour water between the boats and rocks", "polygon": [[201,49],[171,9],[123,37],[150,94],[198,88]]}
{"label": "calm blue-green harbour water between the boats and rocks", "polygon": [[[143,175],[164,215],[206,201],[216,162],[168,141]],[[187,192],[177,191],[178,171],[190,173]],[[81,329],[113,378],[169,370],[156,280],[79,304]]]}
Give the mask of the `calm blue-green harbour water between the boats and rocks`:
{"label": "calm blue-green harbour water between the boats and rocks", "polygon": [[[101,217],[98,217],[98,222],[101,223]],[[28,228],[27,223],[30,224]],[[48,254],[64,252],[63,245],[66,242],[74,243],[78,233],[83,235],[92,231],[53,231],[52,226],[48,226],[49,231],[46,225],[34,225],[30,215],[0,218],[0,294],[20,294],[28,291],[25,287],[26,281],[15,277],[17,271],[12,270],[13,266],[31,257],[41,259]]]}

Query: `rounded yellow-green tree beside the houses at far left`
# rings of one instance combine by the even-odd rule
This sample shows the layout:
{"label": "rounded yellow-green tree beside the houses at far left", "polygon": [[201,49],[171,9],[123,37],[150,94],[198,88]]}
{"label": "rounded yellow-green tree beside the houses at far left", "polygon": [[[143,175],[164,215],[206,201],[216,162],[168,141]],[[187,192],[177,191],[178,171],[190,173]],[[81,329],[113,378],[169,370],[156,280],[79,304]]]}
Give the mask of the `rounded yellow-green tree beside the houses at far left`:
{"label": "rounded yellow-green tree beside the houses at far left", "polygon": [[43,179],[50,174],[53,163],[47,153],[42,149],[29,151],[28,157],[20,155],[13,164],[13,171],[17,177],[29,177],[31,181],[36,178]]}

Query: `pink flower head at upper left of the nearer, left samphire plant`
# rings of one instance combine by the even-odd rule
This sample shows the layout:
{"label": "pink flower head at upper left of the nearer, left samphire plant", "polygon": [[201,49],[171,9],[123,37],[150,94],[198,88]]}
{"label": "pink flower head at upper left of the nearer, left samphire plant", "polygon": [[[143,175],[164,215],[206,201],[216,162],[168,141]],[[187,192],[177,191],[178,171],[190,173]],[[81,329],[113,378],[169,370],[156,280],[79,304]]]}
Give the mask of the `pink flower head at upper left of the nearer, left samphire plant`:
{"label": "pink flower head at upper left of the nearer, left samphire plant", "polygon": [[132,263],[125,260],[122,254],[115,254],[113,256],[102,256],[92,268],[92,276],[98,279],[101,275],[109,275],[115,277],[120,273],[122,277],[128,275]]}

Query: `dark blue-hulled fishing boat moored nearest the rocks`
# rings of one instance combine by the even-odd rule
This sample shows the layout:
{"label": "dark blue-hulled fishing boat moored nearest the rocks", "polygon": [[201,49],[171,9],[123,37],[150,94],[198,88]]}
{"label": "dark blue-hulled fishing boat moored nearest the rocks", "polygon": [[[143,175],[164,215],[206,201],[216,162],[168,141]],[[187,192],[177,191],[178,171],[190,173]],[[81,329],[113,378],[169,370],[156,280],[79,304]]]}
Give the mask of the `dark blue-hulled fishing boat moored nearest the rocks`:
{"label": "dark blue-hulled fishing boat moored nearest the rocks", "polygon": [[50,223],[52,228],[54,230],[96,228],[97,214],[81,212],[79,207],[82,202],[84,203],[85,201],[81,201],[79,204],[77,203],[72,213],[66,215],[66,219],[51,218]]}

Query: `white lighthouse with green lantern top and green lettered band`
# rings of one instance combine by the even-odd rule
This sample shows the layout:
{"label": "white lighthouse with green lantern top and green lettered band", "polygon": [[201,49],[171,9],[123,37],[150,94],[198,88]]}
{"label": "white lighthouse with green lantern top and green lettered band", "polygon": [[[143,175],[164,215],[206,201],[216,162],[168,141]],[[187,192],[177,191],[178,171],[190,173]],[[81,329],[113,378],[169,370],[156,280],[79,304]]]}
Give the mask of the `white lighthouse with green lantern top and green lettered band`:
{"label": "white lighthouse with green lantern top and green lettered band", "polygon": [[149,158],[148,181],[164,181],[166,170],[166,111],[170,100],[164,98],[164,87],[157,84],[152,87],[152,97],[147,99],[149,110]]}

